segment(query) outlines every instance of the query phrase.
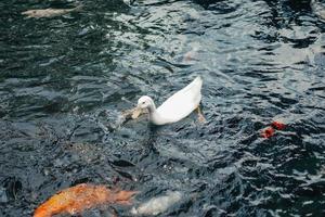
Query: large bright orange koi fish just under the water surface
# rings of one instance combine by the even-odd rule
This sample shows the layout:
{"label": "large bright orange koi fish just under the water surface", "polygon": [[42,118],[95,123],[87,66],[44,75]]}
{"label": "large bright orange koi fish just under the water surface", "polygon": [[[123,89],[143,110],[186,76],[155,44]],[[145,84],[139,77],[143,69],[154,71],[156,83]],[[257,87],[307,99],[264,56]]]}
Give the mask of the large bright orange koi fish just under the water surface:
{"label": "large bright orange koi fish just under the water surface", "polygon": [[113,191],[105,186],[81,183],[65,189],[41,204],[34,217],[52,217],[56,214],[80,214],[86,209],[105,204],[130,205],[135,191]]}

